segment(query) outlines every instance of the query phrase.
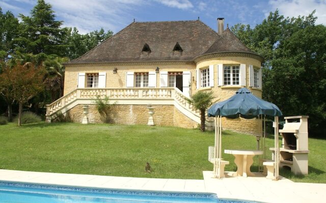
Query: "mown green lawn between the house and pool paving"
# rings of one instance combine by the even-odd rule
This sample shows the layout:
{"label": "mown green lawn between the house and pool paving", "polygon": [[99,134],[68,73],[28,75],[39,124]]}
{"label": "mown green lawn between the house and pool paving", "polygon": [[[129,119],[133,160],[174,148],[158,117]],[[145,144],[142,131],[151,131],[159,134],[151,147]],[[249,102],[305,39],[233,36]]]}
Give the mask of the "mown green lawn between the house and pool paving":
{"label": "mown green lawn between the house and pool paving", "polygon": [[[146,125],[37,123],[0,125],[0,168],[9,170],[107,176],[202,179],[212,171],[208,146],[214,132]],[[224,149],[255,149],[256,138],[223,132]],[[274,146],[274,138],[266,139]],[[309,175],[281,175],[297,182],[326,183],[326,140],[309,139]],[[269,155],[268,155],[269,156]],[[235,171],[234,157],[226,171]],[[149,162],[152,173],[145,172]],[[257,157],[252,171],[258,169]]]}

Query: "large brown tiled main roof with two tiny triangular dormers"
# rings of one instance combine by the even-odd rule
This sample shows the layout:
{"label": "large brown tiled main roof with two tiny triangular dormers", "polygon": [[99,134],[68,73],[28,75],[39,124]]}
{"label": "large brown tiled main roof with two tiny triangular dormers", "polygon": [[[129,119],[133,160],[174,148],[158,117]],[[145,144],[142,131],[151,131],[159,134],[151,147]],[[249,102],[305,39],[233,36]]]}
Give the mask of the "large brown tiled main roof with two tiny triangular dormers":
{"label": "large brown tiled main roof with two tiny triangular dormers", "polygon": [[[71,63],[193,60],[219,38],[200,20],[133,22]],[[181,51],[173,51],[176,43]],[[142,52],[145,43],[151,52]]]}

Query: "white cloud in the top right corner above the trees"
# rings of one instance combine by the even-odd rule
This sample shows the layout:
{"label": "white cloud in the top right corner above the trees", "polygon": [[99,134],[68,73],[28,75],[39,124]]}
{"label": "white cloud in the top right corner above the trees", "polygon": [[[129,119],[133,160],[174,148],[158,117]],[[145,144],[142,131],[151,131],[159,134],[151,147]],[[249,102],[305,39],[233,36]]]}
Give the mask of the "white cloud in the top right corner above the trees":
{"label": "white cloud in the top right corner above the trees", "polygon": [[[314,14],[315,17],[318,17],[316,24],[326,24],[325,0],[271,0],[269,1],[269,5],[272,6],[274,11],[279,9],[280,13],[285,17],[308,16],[316,10]],[[265,15],[268,15],[268,13]]]}

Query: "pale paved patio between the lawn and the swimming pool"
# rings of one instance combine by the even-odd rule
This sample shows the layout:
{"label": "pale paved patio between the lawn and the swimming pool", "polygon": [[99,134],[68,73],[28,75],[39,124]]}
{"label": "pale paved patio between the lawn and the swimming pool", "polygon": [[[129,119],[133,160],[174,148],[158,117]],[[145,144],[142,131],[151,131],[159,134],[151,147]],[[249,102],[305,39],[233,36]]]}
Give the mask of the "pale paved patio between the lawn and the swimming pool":
{"label": "pale paved patio between the lawn and the swimming pool", "polygon": [[256,177],[213,178],[203,172],[204,180],[151,179],[78,174],[56,174],[0,170],[0,181],[69,185],[128,190],[173,192],[210,192],[222,199],[243,199],[258,202],[324,202],[326,184],[294,183],[288,179],[268,180]]}

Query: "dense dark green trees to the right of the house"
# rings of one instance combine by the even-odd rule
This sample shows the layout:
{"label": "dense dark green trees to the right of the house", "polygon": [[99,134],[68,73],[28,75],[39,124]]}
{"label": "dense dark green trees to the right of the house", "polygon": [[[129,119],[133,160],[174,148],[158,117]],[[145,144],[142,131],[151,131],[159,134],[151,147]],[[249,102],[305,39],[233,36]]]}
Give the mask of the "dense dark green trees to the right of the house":
{"label": "dense dark green trees to the right of the house", "polygon": [[310,136],[326,133],[326,27],[309,16],[284,18],[278,10],[254,29],[238,24],[235,35],[261,54],[263,99],[284,116],[308,115]]}

